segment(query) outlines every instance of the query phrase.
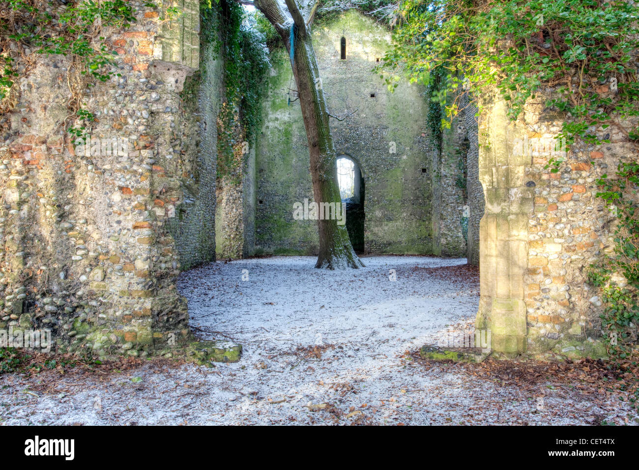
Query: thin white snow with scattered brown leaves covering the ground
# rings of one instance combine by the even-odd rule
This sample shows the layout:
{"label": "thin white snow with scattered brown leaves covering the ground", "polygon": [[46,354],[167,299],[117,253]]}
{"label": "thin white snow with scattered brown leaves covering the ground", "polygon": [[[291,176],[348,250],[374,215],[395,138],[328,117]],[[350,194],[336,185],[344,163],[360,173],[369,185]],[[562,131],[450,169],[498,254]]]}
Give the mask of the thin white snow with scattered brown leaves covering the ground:
{"label": "thin white snow with scattered brown leaves covering the ground", "polygon": [[271,257],[183,273],[196,334],[242,344],[240,362],[149,361],[81,381],[63,375],[40,392],[29,387],[48,376],[0,375],[0,423],[624,423],[629,411],[613,398],[543,381],[501,385],[457,365],[413,361],[407,352],[445,346],[451,328],[472,328],[477,277],[455,268],[465,259],[363,261],[366,268],[326,271],[313,269],[312,257]]}

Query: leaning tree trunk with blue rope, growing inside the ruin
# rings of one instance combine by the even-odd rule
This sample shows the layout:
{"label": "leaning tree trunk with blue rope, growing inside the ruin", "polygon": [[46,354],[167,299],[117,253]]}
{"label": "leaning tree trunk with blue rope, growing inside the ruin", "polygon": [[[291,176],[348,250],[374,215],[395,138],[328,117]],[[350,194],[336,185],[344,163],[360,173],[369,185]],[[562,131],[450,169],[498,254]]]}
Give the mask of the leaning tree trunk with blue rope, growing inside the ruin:
{"label": "leaning tree trunk with blue rope, growing inside the ruin", "polygon": [[[334,202],[337,205],[341,202],[341,197],[337,186],[335,147],[328,126],[330,114],[327,110],[310,34],[318,0],[309,0],[302,6],[298,6],[295,0],[254,0],[253,4],[275,27],[291,58],[291,67],[309,142],[315,202],[318,204]],[[346,225],[338,225],[334,218],[319,218],[318,230],[319,256],[316,268],[364,266],[353,250]]]}

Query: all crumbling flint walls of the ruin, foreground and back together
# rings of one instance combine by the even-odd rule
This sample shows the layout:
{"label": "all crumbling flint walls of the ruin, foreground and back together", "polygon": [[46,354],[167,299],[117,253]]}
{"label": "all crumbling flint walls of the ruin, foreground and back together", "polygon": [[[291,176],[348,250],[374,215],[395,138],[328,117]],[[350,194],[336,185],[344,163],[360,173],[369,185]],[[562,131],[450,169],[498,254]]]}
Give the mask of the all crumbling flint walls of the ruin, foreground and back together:
{"label": "all crumbling flint walls of the ruin, foreground and back together", "polygon": [[[164,24],[132,4],[138,21],[107,36],[121,76],[82,98],[97,117],[89,146],[113,140],[116,151],[87,155],[65,133],[65,57],[35,57],[0,119],[0,328],[48,328],[59,351],[137,356],[184,344],[176,277],[215,259],[216,238],[225,257],[313,254],[318,245],[315,225],[293,220],[311,177],[300,109],[285,96],[286,53],[272,51],[242,178],[216,193],[226,59],[201,44],[197,1]],[[599,354],[600,303],[583,267],[610,250],[594,181],[629,155],[622,136],[551,173],[548,151],[521,146],[558,133],[559,118],[541,106],[511,123],[504,103],[484,97],[479,127],[464,105],[438,133],[424,89],[400,82],[390,93],[371,72],[390,41],[383,27],[346,11],[318,20],[313,34],[329,108],[357,109],[332,125],[337,152],[366,184],[365,251],[479,262],[477,327],[491,330],[495,351]]]}

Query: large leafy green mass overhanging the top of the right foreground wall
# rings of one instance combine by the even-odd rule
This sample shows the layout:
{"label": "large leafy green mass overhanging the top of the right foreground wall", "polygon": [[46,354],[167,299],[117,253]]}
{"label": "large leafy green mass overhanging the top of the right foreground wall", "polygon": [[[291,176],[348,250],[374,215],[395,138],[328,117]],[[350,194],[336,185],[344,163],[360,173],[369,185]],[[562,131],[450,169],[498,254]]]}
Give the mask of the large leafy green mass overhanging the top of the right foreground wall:
{"label": "large leafy green mass overhanging the top of the right foreground wall", "polygon": [[[567,116],[558,138],[606,142],[596,128],[639,114],[635,51],[639,6],[603,0],[406,0],[394,47],[380,71],[429,84],[441,70],[442,105],[465,87],[474,96],[497,87],[512,119],[528,98],[553,87],[546,106]],[[402,68],[400,64],[404,64]],[[616,89],[615,89],[616,86]]]}

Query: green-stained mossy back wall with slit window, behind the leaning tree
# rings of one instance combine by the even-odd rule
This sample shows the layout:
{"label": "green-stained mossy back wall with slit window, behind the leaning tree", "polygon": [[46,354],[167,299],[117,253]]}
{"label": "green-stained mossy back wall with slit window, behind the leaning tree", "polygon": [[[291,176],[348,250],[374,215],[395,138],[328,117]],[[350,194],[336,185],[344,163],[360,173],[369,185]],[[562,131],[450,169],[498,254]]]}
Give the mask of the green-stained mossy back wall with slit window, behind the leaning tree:
{"label": "green-stained mossy back wall with slit window, behind the leaning tree", "polygon": [[[355,10],[318,20],[312,34],[328,109],[335,116],[357,110],[344,121],[331,119],[331,129],[337,156],[353,158],[364,176],[366,252],[433,252],[433,143],[424,88],[400,82],[394,93],[387,89],[372,69],[390,33]],[[293,219],[293,204],[312,200],[312,186],[299,102],[288,105],[295,80],[286,50],[272,52],[272,65],[256,142],[256,251],[315,254],[316,222]]]}

